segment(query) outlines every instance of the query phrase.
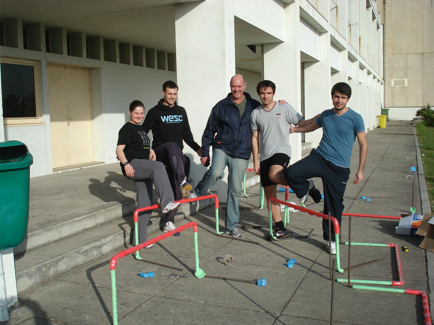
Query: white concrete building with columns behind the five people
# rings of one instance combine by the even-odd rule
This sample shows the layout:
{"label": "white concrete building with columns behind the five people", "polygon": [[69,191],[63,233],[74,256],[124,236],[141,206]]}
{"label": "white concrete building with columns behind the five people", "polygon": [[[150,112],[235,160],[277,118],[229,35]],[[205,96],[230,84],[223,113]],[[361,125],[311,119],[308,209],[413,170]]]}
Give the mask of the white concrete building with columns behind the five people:
{"label": "white concrete building with columns behind the five people", "polygon": [[[166,80],[178,83],[198,143],[235,73],[257,99],[257,82],[274,81],[275,99],[306,118],[332,107],[339,81],[351,85],[349,106],[366,130],[384,107],[375,0],[4,0],[0,20],[0,141],[29,147],[32,177],[116,162],[129,103],[153,107]],[[321,136],[289,136],[293,161],[302,141],[317,146]],[[185,153],[197,182],[205,169]]]}

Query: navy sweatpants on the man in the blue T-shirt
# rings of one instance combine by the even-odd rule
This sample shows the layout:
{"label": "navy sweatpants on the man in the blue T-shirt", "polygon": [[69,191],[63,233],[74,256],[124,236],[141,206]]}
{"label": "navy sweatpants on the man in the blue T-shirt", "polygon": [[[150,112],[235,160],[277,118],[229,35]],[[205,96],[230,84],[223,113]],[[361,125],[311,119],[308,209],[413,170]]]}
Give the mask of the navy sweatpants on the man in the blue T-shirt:
{"label": "navy sweatpants on the man in the blue T-shirt", "polygon": [[[289,166],[283,172],[288,185],[302,198],[309,191],[308,179],[320,177],[324,188],[324,214],[331,214],[342,221],[344,211],[344,193],[350,175],[350,169],[335,165],[312,149],[309,156]],[[322,219],[322,237],[329,240],[329,221]],[[332,241],[335,241],[335,229],[332,223]]]}

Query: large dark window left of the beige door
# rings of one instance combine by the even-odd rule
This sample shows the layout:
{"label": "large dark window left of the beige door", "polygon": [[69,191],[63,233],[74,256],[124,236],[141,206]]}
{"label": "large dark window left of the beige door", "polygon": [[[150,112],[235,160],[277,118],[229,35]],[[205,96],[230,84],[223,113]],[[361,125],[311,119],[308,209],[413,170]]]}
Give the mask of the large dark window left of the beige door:
{"label": "large dark window left of the beige door", "polygon": [[36,117],[33,65],[0,63],[3,118]]}

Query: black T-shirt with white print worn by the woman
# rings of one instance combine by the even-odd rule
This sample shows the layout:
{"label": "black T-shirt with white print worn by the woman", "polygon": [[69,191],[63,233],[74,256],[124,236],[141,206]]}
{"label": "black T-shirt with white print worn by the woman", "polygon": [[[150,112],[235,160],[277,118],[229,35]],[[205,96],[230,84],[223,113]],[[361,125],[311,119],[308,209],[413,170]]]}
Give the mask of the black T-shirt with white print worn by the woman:
{"label": "black T-shirt with white print worn by the woman", "polygon": [[[133,159],[149,159],[151,141],[141,125],[127,122],[119,130],[118,146],[125,144],[124,154],[128,162]],[[123,165],[121,163],[122,171]]]}

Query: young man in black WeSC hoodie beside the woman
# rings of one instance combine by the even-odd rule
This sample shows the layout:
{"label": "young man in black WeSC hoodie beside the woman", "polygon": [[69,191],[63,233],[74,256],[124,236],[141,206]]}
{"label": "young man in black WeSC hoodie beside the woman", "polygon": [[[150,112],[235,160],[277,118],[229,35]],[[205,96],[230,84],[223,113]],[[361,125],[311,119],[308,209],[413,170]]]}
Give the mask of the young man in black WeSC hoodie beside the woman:
{"label": "young man in black WeSC hoodie beside the woman", "polygon": [[[157,160],[167,167],[175,200],[181,200],[191,191],[191,184],[187,181],[190,164],[182,153],[183,140],[199,156],[202,148],[193,139],[184,107],[176,103],[178,85],[173,81],[164,82],[162,94],[163,98],[146,114],[143,128],[146,133],[152,130],[152,149]],[[175,229],[175,215],[176,211],[166,214],[164,232]]]}

